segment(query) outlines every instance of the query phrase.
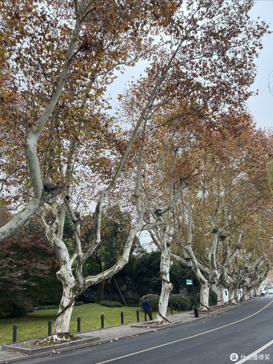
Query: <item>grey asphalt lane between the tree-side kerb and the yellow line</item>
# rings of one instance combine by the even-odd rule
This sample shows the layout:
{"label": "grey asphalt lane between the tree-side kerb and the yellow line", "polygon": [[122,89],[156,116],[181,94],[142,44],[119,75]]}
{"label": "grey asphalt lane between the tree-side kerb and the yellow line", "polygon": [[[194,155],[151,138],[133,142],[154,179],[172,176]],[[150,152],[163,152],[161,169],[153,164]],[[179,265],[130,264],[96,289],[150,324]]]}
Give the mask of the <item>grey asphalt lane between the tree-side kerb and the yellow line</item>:
{"label": "grey asphalt lane between the tree-side kerb and the yellow line", "polygon": [[[104,343],[102,345],[94,345],[94,346],[88,347],[87,349],[83,349],[83,350],[78,349],[76,351],[62,352],[58,355],[55,354],[52,356],[44,356],[44,357],[40,357],[40,358],[36,358],[36,359],[31,359],[31,360],[29,360],[29,363],[31,363],[31,362],[46,363],[47,361],[50,361],[51,363],[58,361],[58,363],[60,363],[60,364],[69,363],[70,359],[72,357],[75,357],[79,363],[93,364],[93,363],[98,363],[98,362],[105,361],[105,360],[110,360],[111,358],[128,355],[130,353],[136,353],[143,349],[144,350],[150,349],[150,348],[158,346],[158,345],[170,343],[171,341],[175,341],[175,340],[179,340],[179,339],[180,340],[186,339],[186,340],[183,340],[180,345],[177,344],[177,346],[175,347],[175,352],[177,353],[177,355],[179,355],[179,350],[180,350],[180,348],[185,347],[185,342],[194,339],[194,338],[187,339],[187,337],[193,336],[193,335],[198,335],[200,333],[209,331],[211,329],[215,329],[215,328],[221,327],[223,325],[230,324],[231,322],[237,321],[240,318],[247,317],[247,316],[253,314],[253,312],[257,312],[258,310],[263,308],[267,302],[271,302],[271,300],[270,301],[266,301],[266,299],[254,300],[250,303],[246,303],[243,306],[236,307],[235,309],[230,310],[226,313],[220,314],[218,316],[207,317],[207,318],[204,318],[199,321],[195,321],[190,324],[179,325],[177,327],[172,327],[171,329],[165,329],[165,330],[156,331],[156,332],[146,334],[146,335],[135,336],[135,337],[132,337],[131,339],[123,339],[123,340],[119,340],[119,341],[114,341],[113,343]],[[267,311],[267,315],[269,315],[269,313],[271,312],[271,316],[272,316],[271,309],[270,310],[265,309],[265,310]],[[250,319],[247,319],[245,321],[249,321],[249,320]],[[200,351],[202,352],[202,350],[203,350],[202,344],[205,343],[205,346],[209,345],[209,347],[211,347],[211,341],[213,341],[215,339],[215,337],[220,337],[221,342],[227,343],[227,341],[230,341],[230,345],[228,347],[225,346],[223,349],[221,349],[221,352],[217,353],[218,357],[219,357],[219,355],[223,356],[223,354],[226,357],[228,354],[230,355],[232,352],[234,352],[234,351],[230,351],[231,347],[236,348],[237,352],[239,352],[239,350],[242,349],[242,347],[243,348],[245,347],[244,345],[247,343],[248,340],[251,340],[251,341],[254,340],[255,330],[253,328],[255,328],[255,326],[258,325],[258,323],[260,323],[263,320],[265,322],[267,322],[267,324],[268,324],[268,322],[269,322],[268,316],[267,316],[267,318],[265,318],[264,315],[261,315],[261,313],[258,313],[256,315],[252,316],[251,325],[248,322],[248,325],[250,325],[251,327],[248,327],[248,329],[245,329],[244,331],[242,330],[242,326],[240,326],[241,323],[237,323],[237,324],[228,326],[230,328],[230,327],[233,327],[234,325],[239,325],[237,327],[234,327],[233,329],[229,329],[229,331],[224,331],[225,328],[222,328],[222,329],[218,329],[216,331],[211,332],[211,336],[207,336],[207,337],[209,337],[209,340],[204,340],[204,338],[201,340],[198,339],[200,337],[208,335],[208,333],[199,335],[199,336],[197,336],[197,339],[198,339],[197,341],[196,341],[196,338],[195,338],[195,340],[192,341],[194,343],[193,346],[190,344],[191,350],[194,351],[194,350],[198,349],[197,359],[199,360],[199,353],[200,353]],[[205,321],[205,322],[203,323],[202,321]],[[242,321],[242,322],[244,322],[244,321]],[[259,325],[258,327],[261,328],[262,325]],[[221,330],[221,333],[219,333],[220,330]],[[249,337],[249,339],[245,339],[246,343],[243,340],[245,331],[253,332],[252,337]],[[228,334],[226,335],[227,332],[228,332]],[[241,334],[240,334],[240,332],[241,332]],[[235,335],[235,334],[237,334],[237,335]],[[234,340],[231,341],[232,339],[234,339]],[[239,345],[238,345],[238,343],[239,343]],[[215,344],[217,345],[217,342],[215,342]],[[214,344],[214,351],[215,351],[215,344]],[[173,344],[165,345],[165,347],[162,348],[162,351],[169,352],[170,345],[173,345]],[[189,344],[187,344],[187,345],[189,345]],[[199,348],[198,348],[198,345],[199,345]],[[149,354],[149,356],[150,355],[153,356],[152,352],[154,350],[155,349],[149,350],[149,352],[147,352],[147,355]],[[224,352],[224,350],[225,350],[225,352]],[[161,352],[161,349],[158,348],[158,351]],[[245,351],[245,349],[244,349],[244,351]],[[251,350],[248,353],[251,353],[251,352],[253,352],[253,350]],[[137,355],[141,355],[141,353],[134,354],[133,356],[137,356]],[[133,356],[130,356],[130,360],[134,360]],[[206,353],[205,357],[210,357],[209,353]],[[119,359],[119,360],[122,360],[122,359]],[[157,360],[158,359],[156,359],[155,362]],[[173,360],[175,360],[175,357],[173,358]],[[71,363],[72,362],[73,362],[73,360],[71,361]],[[117,362],[117,361],[115,361],[115,362]],[[206,363],[207,362],[209,362],[209,361],[206,361]],[[199,361],[197,361],[197,363],[199,363]],[[211,363],[213,363],[213,361],[211,361]],[[217,361],[216,361],[216,363],[217,363]],[[219,363],[221,363],[221,361],[220,362],[218,361],[218,364]]]}

